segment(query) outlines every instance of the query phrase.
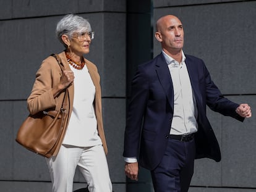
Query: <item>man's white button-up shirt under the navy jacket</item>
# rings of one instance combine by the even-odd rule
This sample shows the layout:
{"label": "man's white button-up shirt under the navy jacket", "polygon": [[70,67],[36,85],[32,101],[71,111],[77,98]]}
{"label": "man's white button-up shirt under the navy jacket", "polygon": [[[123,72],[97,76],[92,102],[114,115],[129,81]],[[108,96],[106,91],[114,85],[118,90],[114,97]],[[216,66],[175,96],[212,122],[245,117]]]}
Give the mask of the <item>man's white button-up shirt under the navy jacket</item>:
{"label": "man's white button-up shirt under the navy jacket", "polygon": [[184,52],[182,51],[181,63],[175,61],[164,51],[162,52],[173,81],[174,112],[170,134],[188,135],[195,133],[197,131],[197,108],[195,107],[195,99],[193,99]]}

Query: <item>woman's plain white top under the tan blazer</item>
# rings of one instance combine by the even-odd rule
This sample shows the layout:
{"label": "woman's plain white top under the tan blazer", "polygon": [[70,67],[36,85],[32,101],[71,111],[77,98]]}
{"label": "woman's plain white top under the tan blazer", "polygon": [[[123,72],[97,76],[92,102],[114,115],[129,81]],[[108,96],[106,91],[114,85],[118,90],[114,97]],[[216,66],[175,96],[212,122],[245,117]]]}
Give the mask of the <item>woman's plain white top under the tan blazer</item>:
{"label": "woman's plain white top under the tan blazer", "polygon": [[74,72],[74,105],[63,144],[88,147],[101,144],[93,101],[95,86],[85,65],[82,70],[70,67]]}

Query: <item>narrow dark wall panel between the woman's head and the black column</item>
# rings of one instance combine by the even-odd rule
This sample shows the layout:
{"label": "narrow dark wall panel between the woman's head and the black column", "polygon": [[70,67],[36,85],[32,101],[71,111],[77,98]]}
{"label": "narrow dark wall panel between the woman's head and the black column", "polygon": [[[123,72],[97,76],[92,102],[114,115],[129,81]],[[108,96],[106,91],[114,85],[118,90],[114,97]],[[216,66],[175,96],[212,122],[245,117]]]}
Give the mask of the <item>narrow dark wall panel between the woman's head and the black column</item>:
{"label": "narrow dark wall panel between the woman's head and the black column", "polygon": [[126,15],[105,14],[103,97],[126,96]]}

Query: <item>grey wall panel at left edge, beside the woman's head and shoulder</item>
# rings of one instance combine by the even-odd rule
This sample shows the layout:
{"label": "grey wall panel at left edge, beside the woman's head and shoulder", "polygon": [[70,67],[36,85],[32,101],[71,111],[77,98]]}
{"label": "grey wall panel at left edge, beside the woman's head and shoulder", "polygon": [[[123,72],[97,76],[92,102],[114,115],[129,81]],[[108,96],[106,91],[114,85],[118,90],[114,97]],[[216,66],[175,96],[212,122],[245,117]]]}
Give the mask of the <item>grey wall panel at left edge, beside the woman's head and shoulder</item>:
{"label": "grey wall panel at left edge, beside the woman's head and shoulder", "polygon": [[30,93],[33,77],[39,67],[36,59],[42,56],[40,50],[45,48],[44,30],[35,31],[43,23],[40,19],[0,23],[1,46],[4,48],[1,50],[4,57],[0,58],[0,74],[4,77],[0,86],[4,91],[0,99],[24,99]]}

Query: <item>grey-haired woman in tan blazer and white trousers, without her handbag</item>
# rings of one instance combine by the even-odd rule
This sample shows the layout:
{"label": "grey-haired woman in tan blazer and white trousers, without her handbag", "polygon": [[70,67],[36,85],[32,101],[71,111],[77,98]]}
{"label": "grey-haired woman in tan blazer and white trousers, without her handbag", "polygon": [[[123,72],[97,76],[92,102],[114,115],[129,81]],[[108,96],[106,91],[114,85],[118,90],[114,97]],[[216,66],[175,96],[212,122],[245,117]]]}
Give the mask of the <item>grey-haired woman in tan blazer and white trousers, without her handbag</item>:
{"label": "grey-haired woman in tan blazer and white trousers, without her handbag", "polygon": [[58,109],[64,90],[68,90],[66,134],[54,155],[46,158],[53,191],[72,191],[78,165],[89,191],[110,192],[112,184],[105,155],[108,149],[101,115],[100,76],[96,66],[83,57],[90,50],[94,32],[87,20],[69,14],[59,21],[56,35],[66,48],[59,54],[65,70],[61,72],[54,57],[46,58],[36,73],[27,100],[30,114]]}

